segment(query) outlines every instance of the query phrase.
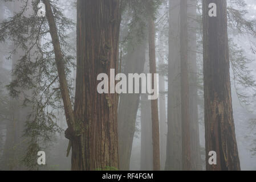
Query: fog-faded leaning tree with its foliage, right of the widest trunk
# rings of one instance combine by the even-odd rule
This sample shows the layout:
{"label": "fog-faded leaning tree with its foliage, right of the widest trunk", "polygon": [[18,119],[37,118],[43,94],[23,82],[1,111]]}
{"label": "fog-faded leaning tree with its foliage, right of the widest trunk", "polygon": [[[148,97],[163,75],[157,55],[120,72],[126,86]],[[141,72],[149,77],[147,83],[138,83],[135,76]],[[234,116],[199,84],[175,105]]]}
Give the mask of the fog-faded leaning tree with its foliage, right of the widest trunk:
{"label": "fog-faded leaning tree with its foliage, right of the widest trunk", "polygon": [[[141,2],[143,3],[143,2]],[[120,72],[128,76],[128,73],[143,73],[145,54],[147,48],[147,35],[145,32],[145,10],[141,3],[127,7],[123,13],[123,46],[121,62],[123,70]],[[138,9],[142,9],[138,13]],[[131,16],[132,14],[132,16]],[[127,17],[128,16],[128,17]],[[127,23],[128,20],[131,23]],[[118,108],[118,139],[119,139],[119,163],[121,170],[129,170],[133,138],[136,131],[136,117],[139,108],[140,94],[120,94]]]}

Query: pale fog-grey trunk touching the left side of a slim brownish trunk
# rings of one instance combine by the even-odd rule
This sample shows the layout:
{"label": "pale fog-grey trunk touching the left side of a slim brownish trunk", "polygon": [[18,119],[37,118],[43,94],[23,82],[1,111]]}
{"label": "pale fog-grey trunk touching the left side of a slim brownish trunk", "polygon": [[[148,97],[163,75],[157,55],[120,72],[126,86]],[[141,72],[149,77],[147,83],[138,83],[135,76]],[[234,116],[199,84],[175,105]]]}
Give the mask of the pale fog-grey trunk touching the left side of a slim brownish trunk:
{"label": "pale fog-grey trunk touching the left side of a slim brownish trunk", "polygon": [[182,170],[180,0],[169,1],[168,133],[165,170]]}

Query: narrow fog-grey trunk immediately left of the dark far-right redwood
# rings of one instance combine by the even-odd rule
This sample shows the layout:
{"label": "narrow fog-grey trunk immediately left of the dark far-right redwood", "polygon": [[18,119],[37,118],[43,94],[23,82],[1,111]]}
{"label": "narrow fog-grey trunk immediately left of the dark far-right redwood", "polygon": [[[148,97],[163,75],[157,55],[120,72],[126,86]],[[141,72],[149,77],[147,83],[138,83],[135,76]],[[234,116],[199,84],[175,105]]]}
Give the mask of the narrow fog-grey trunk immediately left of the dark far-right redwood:
{"label": "narrow fog-grey trunk immediately left of the dark far-right redwood", "polygon": [[192,170],[201,170],[200,138],[197,109],[197,1],[188,0],[188,64],[189,64],[189,118]]}

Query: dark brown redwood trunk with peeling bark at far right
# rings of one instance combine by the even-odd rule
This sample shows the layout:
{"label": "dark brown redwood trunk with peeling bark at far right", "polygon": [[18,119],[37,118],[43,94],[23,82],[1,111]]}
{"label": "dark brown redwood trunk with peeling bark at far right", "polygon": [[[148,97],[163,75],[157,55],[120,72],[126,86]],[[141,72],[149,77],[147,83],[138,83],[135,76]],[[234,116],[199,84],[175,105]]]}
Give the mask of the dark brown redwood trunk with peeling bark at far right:
{"label": "dark brown redwood trunk with peeling bark at far right", "polygon": [[[209,17],[209,3],[216,3],[217,17]],[[226,6],[226,0],[203,1],[207,170],[241,169],[231,101]],[[216,151],[217,165],[207,163],[209,151]]]}

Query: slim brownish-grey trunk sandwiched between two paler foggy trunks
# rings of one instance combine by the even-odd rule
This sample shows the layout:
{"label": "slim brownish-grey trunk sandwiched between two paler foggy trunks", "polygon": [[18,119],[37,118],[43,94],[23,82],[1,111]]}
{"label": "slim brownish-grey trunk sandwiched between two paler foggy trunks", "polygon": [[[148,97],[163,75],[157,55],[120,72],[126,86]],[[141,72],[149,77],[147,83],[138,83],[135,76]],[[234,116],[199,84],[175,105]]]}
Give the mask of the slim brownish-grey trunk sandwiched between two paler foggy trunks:
{"label": "slim brownish-grey trunk sandwiched between two paler foggy trunks", "polygon": [[188,78],[188,1],[180,4],[180,53],[181,53],[181,130],[182,169],[191,169],[190,119],[189,119],[189,78]]}

